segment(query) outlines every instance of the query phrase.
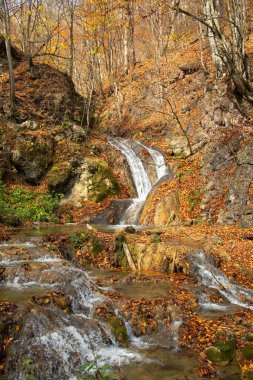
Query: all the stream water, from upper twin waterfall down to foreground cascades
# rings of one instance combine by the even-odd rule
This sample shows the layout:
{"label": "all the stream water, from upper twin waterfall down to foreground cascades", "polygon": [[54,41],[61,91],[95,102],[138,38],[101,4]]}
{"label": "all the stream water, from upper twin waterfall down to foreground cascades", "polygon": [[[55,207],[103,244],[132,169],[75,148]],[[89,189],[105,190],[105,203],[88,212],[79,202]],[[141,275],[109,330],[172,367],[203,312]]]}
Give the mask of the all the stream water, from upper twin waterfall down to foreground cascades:
{"label": "all the stream water, from upper twin waterfall down to foreground cascades", "polygon": [[[112,138],[109,142],[125,155],[137,198],[120,215],[118,225],[95,227],[112,234],[129,224],[135,225],[137,231],[145,230],[145,226],[138,225],[145,200],[153,186],[170,179],[172,173],[162,154],[153,148]],[[141,159],[143,149],[149,155],[149,164]],[[18,332],[17,339],[8,349],[2,378],[92,379],[96,370],[108,365],[122,380],[199,379],[196,369],[200,363],[196,354],[179,348],[179,329],[184,316],[171,299],[169,280],[150,282],[147,276],[140,276],[138,281],[131,281],[132,273],[121,271],[116,272],[117,281],[111,282],[115,272],[84,270],[43,240],[44,236],[71,235],[85,228],[66,225],[17,229],[10,240],[0,243],[0,302],[11,302],[18,307],[11,320]],[[152,228],[148,229],[152,233]],[[238,307],[253,309],[252,292],[231,283],[201,248],[195,249],[189,261],[198,279],[194,286],[200,315],[213,320],[225,313],[234,313]],[[224,304],[211,303],[206,289],[219,292]],[[158,326],[156,332],[137,334],[136,326],[130,326],[119,311],[117,297],[124,302],[156,302],[160,316],[156,321],[151,320]],[[123,326],[124,341],[100,316],[104,305],[117,326],[121,329]],[[89,371],[86,368],[88,377],[82,377],[83,365],[90,365]],[[220,368],[216,378],[236,380],[239,377],[239,367],[231,364]]]}

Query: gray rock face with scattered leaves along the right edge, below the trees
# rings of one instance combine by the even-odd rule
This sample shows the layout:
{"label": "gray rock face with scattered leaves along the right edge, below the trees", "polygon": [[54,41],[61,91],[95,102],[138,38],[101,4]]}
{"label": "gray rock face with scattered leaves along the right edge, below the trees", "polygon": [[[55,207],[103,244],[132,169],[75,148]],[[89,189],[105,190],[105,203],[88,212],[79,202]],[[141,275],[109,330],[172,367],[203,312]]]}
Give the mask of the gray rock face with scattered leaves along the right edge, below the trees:
{"label": "gray rock face with scattered leaves along the right edge, below the trees", "polygon": [[[209,136],[202,174],[206,178],[203,216],[220,224],[253,225],[253,142],[235,103],[218,89],[203,99],[202,128]],[[240,133],[238,131],[240,130]],[[223,203],[214,220],[215,202]]]}

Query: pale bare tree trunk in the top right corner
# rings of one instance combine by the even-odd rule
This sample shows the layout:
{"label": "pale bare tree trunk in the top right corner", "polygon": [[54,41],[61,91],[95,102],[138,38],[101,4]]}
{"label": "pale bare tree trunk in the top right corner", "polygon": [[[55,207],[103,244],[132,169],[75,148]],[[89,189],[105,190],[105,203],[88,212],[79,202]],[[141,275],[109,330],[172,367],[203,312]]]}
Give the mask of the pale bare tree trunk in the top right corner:
{"label": "pale bare tree trunk in the top right corner", "polygon": [[[235,92],[253,103],[248,57],[245,52],[246,0],[204,0],[204,16],[178,7],[178,12],[206,26],[213,62],[217,75],[227,74],[232,79]],[[167,6],[172,7],[167,3]]]}

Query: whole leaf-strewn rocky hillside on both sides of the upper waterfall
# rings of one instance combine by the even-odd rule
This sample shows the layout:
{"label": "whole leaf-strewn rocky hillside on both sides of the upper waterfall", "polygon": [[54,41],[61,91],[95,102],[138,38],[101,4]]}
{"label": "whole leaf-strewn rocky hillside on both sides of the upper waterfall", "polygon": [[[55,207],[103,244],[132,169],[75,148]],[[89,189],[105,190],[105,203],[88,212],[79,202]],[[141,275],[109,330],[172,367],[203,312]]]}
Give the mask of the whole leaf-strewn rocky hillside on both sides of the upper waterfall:
{"label": "whole leaf-strewn rocky hillside on both sides of the upper waterfall", "polygon": [[252,225],[252,109],[227,78],[215,79],[208,49],[205,66],[200,54],[193,41],[159,70],[151,60],[137,65],[120,80],[117,99],[108,92],[97,103],[89,131],[85,99],[68,76],[37,64],[31,79],[17,54],[11,120],[6,71],[0,99],[3,181],[64,193],[61,220],[89,220],[115,197],[135,194],[125,158],[107,144],[107,135],[123,136],[159,148],[175,174],[150,194],[141,223]]}

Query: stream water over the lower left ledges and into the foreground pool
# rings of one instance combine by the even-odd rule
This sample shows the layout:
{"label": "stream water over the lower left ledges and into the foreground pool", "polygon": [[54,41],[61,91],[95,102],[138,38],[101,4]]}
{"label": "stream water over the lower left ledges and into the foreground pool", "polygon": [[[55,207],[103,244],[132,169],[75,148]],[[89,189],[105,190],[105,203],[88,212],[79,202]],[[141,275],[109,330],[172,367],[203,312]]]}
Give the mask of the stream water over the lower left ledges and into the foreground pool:
{"label": "stream water over the lower left ledges and into the foreground pool", "polygon": [[[56,227],[54,231],[61,232],[62,228]],[[5,269],[0,301],[17,304],[23,315],[18,340],[10,348],[6,379],[26,379],[24,359],[36,367],[36,379],[77,379],[81,365],[94,358],[98,358],[99,367],[106,363],[120,369],[120,376],[129,380],[191,376],[197,360],[190,350],[178,351],[179,324],[174,325],[168,347],[160,346],[159,342],[149,344],[134,336],[127,324],[129,345],[121,347],[108,326],[94,314],[94,309],[106,298],[95,285],[99,270],[74,267],[42,245],[43,233],[43,229],[19,230],[11,240],[0,244],[0,265]],[[109,273],[101,271],[101,276],[105,275]],[[167,288],[157,285],[150,289],[141,282],[134,286],[117,283],[111,291],[152,298],[166,297]],[[71,312],[64,314],[55,304],[46,307],[29,304],[33,297],[48,292],[63,293],[71,304]]]}

